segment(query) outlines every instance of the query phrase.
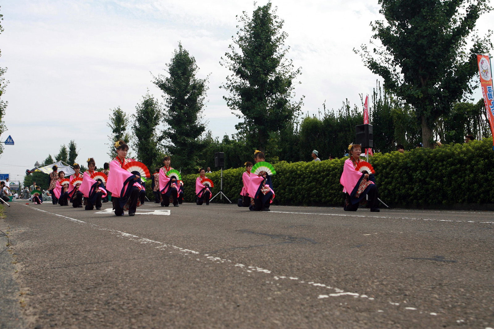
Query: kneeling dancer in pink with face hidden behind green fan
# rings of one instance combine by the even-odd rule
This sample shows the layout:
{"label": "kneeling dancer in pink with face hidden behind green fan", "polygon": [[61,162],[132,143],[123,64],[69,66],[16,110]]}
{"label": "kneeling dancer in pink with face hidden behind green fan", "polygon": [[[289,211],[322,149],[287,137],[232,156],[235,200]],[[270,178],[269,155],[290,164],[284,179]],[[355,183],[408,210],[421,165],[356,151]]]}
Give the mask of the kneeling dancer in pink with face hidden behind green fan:
{"label": "kneeling dancer in pink with face hidden behind green fan", "polygon": [[275,198],[271,176],[276,175],[273,166],[265,162],[266,156],[263,152],[254,152],[255,165],[250,171],[250,183],[247,188],[250,196],[249,210],[270,211],[269,206]]}

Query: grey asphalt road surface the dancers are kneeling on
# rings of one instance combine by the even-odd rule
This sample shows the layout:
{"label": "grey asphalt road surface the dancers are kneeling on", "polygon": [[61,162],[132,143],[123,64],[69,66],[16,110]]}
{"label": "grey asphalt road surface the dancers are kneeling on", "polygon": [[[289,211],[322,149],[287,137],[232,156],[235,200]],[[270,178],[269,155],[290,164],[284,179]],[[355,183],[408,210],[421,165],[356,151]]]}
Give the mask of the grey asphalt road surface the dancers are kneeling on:
{"label": "grey asphalt road surface the dancers are kneeling on", "polygon": [[494,328],[492,212],[109,207],[7,209],[0,328]]}

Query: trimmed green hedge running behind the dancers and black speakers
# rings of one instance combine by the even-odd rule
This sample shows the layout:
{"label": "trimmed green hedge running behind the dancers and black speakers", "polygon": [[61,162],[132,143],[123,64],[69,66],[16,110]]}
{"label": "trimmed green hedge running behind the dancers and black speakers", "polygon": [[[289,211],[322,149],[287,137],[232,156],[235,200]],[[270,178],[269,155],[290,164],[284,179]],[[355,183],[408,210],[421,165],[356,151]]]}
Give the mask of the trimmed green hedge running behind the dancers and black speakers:
{"label": "trimmed green hedge running behind the dancers and black speakers", "polygon": [[[492,138],[436,149],[377,153],[371,159],[379,197],[388,205],[448,205],[494,203],[494,151]],[[321,162],[281,161],[273,164],[275,203],[282,205],[340,206],[339,183],[347,158]],[[240,198],[244,168],[223,171],[223,191],[233,203]],[[195,202],[199,174],[183,176],[184,201]],[[206,175],[219,191],[220,173]],[[149,181],[148,190],[151,183]],[[148,193],[149,194],[149,193]],[[148,196],[149,197],[149,196]]]}

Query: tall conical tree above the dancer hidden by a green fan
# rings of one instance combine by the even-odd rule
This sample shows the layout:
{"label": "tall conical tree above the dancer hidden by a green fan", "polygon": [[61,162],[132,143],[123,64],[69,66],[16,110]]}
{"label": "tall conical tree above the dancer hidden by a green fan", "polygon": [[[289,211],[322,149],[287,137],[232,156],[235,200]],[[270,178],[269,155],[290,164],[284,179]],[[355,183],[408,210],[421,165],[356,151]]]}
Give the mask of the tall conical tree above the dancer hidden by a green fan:
{"label": "tall conical tree above the dancer hidden by a green fan", "polygon": [[287,128],[300,110],[302,99],[291,100],[293,79],[300,68],[294,70],[292,61],[286,58],[288,35],[282,31],[284,21],[276,15],[276,9],[271,10],[271,2],[258,6],[252,17],[244,12],[239,23],[243,26],[220,63],[233,74],[220,88],[230,93],[223,98],[244,120],[235,128],[252,148],[265,151],[272,133]]}

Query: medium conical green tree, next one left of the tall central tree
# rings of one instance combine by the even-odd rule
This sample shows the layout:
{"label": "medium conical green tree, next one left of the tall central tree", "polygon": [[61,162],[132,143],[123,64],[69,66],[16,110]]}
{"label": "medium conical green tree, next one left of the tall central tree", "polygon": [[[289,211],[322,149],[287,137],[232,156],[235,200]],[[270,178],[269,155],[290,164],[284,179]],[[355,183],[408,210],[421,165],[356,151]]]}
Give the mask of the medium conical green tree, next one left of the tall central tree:
{"label": "medium conical green tree, next one left of the tall central tree", "polygon": [[196,77],[199,70],[196,60],[178,43],[166,75],[154,77],[154,84],[165,95],[163,121],[169,126],[163,138],[171,142],[168,150],[173,155],[173,166],[185,173],[194,171],[200,159],[198,155],[206,145],[200,136],[206,130],[202,111],[206,99],[206,81]]}

